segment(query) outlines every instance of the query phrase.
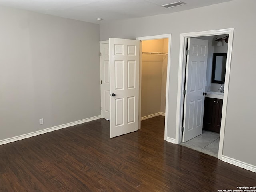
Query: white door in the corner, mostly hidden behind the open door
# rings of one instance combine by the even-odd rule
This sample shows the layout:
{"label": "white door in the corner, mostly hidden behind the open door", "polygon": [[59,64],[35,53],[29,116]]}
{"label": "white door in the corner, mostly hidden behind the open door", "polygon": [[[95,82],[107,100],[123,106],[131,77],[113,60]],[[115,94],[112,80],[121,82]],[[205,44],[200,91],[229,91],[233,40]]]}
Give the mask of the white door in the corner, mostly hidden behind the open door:
{"label": "white door in the corner, mostly hidden behind the open door", "polygon": [[110,73],[109,73],[109,47],[108,43],[100,44],[100,93],[101,116],[110,120]]}

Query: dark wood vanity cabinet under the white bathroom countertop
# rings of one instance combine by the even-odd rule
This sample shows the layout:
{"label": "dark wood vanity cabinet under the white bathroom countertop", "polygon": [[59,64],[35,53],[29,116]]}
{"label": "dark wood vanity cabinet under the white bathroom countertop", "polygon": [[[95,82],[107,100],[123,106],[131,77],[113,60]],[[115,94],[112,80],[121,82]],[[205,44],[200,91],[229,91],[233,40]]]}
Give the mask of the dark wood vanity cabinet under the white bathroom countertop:
{"label": "dark wood vanity cabinet under the white bathroom countertop", "polygon": [[205,97],[203,129],[220,133],[222,99]]}

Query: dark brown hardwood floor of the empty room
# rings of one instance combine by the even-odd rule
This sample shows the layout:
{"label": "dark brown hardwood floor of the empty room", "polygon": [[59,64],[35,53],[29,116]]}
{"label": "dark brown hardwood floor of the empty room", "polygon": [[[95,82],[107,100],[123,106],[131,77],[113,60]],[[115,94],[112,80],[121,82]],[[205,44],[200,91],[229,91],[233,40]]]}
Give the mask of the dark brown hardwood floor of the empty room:
{"label": "dark brown hardwood floor of the empty room", "polygon": [[0,146],[0,192],[216,192],[256,173],[164,141],[164,117],[109,138],[100,119]]}

